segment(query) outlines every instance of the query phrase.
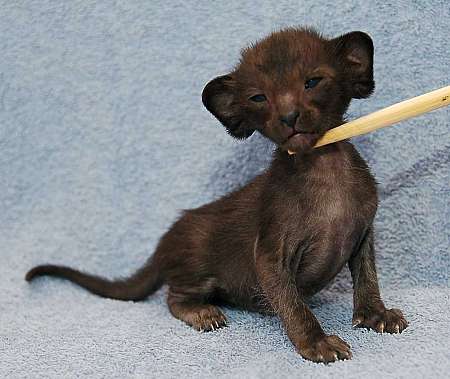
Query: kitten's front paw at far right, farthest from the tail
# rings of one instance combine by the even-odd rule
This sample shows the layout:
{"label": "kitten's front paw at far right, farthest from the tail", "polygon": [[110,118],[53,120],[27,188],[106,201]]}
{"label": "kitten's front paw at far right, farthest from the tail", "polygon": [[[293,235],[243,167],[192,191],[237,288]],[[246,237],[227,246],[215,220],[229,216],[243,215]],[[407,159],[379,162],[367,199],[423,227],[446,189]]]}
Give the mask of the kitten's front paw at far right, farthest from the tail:
{"label": "kitten's front paw at far right, farthest from the tail", "polygon": [[408,326],[400,309],[379,309],[362,308],[353,314],[354,328],[373,329],[378,333],[401,333]]}

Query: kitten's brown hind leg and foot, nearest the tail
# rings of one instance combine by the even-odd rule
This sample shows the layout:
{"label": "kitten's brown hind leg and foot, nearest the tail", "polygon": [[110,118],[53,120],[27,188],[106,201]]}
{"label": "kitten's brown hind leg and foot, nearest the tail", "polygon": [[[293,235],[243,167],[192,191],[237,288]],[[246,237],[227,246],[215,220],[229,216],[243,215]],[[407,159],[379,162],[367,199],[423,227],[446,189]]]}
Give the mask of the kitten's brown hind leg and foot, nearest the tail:
{"label": "kitten's brown hind leg and foot, nearest the tail", "polygon": [[227,325],[227,319],[215,305],[201,298],[169,290],[167,298],[172,315],[199,331],[213,331]]}

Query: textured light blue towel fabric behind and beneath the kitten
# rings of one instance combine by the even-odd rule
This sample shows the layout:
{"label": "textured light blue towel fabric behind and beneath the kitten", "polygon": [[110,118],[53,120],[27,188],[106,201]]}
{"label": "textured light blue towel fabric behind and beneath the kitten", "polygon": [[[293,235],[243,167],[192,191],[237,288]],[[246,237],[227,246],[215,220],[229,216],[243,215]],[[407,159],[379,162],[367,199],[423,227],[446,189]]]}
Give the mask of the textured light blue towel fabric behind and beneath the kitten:
{"label": "textured light blue towel fabric behind and beneath the kitten", "polygon": [[382,293],[401,335],[352,330],[348,272],[312,299],[353,359],[303,360],[279,320],[226,309],[198,333],[142,303],[101,299],[33,265],[130,274],[181,209],[247,182],[270,159],[202,107],[205,83],[283,26],[368,32],[377,88],[350,119],[450,83],[448,0],[2,1],[0,377],[448,377],[449,109],[355,140],[379,182]]}

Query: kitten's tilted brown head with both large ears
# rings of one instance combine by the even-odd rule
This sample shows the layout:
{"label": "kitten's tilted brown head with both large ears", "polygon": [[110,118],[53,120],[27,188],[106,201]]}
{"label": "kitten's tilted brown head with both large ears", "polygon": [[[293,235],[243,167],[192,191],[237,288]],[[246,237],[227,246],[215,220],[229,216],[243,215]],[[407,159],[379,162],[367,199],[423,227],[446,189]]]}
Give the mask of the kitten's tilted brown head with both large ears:
{"label": "kitten's tilted brown head with both large ears", "polygon": [[202,100],[233,137],[257,130],[301,153],[342,123],[351,98],[370,96],[374,85],[367,34],[325,39],[286,29],[243,50],[235,70],[210,81]]}

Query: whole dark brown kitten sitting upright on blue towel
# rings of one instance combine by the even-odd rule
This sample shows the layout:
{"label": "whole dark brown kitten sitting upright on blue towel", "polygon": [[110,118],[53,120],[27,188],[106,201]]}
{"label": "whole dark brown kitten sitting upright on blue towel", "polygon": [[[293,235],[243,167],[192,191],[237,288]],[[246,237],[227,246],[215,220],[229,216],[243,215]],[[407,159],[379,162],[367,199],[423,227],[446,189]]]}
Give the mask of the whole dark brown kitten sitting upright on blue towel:
{"label": "whole dark brown kitten sitting upright on blue towel", "polygon": [[[304,297],[348,263],[354,325],[401,332],[406,320],[385,308],[378,289],[375,181],[349,142],[312,149],[343,122],[351,98],[371,94],[372,66],[372,41],[362,32],[328,40],[287,29],[244,50],[232,73],[208,83],[203,102],[234,137],[257,130],[274,141],[279,148],[270,168],[240,190],[185,212],[128,279],[53,265],[32,269],[26,279],[64,277],[122,300],[144,299],[166,283],[172,314],[196,329],[226,324],[217,307],[222,302],[275,313],[303,357],[331,362],[350,358],[350,347],[324,333]],[[311,78],[321,80],[306,88]],[[251,100],[254,95],[260,101]]]}

